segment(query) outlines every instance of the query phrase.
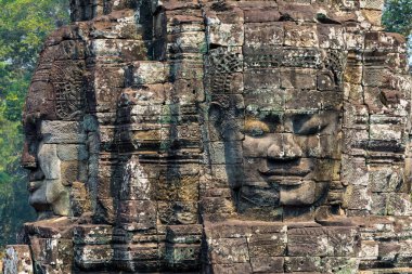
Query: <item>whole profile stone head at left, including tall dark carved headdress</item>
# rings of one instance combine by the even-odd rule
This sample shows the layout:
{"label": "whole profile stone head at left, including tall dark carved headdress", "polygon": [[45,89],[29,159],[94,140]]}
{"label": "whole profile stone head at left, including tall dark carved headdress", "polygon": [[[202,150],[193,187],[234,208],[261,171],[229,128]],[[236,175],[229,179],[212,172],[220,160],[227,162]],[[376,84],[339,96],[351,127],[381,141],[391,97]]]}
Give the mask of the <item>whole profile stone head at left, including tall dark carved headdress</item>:
{"label": "whole profile stone head at left, including tall dark carved headdress", "polygon": [[[24,112],[23,167],[29,169],[29,203],[39,218],[70,214],[70,186],[87,180],[85,135],[80,134],[83,61],[79,44],[49,39],[35,71]],[[76,49],[76,50],[75,50]]]}

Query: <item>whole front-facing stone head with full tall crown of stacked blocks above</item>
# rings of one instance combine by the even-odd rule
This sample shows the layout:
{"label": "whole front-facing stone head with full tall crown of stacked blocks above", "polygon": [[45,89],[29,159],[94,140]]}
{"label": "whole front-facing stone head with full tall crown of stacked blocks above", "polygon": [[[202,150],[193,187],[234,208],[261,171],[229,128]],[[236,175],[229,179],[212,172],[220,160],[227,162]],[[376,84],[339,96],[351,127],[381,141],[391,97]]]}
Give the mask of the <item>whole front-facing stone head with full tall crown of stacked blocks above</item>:
{"label": "whole front-facing stone head with full tall crown of stacked blocks above", "polygon": [[342,203],[345,27],[294,9],[227,3],[206,12],[211,164],[224,162],[246,219],[312,219]]}

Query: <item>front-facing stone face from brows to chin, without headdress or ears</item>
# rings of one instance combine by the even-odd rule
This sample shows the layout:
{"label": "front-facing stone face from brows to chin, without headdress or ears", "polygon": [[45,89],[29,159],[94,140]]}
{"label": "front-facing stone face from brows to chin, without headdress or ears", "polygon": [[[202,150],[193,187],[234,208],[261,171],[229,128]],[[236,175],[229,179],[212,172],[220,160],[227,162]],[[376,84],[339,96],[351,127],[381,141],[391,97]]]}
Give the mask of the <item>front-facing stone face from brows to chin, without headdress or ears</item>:
{"label": "front-facing stone face from brows to chin, without headdress or ears", "polygon": [[[299,95],[304,91],[297,92]],[[253,107],[246,106],[243,127],[241,205],[305,207],[320,203],[331,181],[338,180],[333,177],[338,168],[339,112],[261,112]]]}

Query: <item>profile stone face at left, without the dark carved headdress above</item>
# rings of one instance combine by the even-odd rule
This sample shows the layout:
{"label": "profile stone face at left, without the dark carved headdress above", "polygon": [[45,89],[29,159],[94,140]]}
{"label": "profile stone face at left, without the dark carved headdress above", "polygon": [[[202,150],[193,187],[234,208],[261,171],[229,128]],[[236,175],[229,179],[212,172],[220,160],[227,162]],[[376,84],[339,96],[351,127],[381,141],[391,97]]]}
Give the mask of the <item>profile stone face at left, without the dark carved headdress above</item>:
{"label": "profile stone face at left, without the dark carved headdress above", "polygon": [[[25,120],[29,128],[30,121]],[[70,214],[70,186],[87,181],[88,152],[76,121],[39,120],[28,135],[23,165],[29,172],[29,203],[39,218]]]}

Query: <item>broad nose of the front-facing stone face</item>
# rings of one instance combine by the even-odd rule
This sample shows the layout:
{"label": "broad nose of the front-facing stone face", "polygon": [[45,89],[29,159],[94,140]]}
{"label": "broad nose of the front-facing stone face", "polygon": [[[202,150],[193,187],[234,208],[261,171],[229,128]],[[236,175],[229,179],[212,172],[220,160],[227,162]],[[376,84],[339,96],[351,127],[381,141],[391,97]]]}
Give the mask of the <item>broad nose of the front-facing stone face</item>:
{"label": "broad nose of the front-facing stone face", "polygon": [[268,148],[268,158],[273,160],[292,160],[301,155],[301,148],[292,134],[282,135],[281,142],[275,142]]}

